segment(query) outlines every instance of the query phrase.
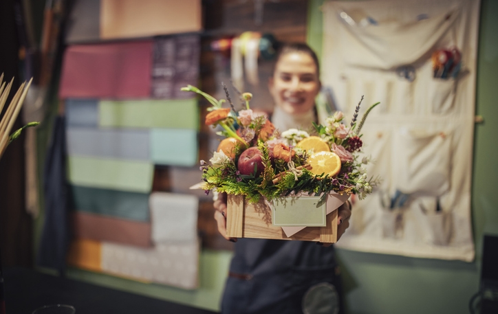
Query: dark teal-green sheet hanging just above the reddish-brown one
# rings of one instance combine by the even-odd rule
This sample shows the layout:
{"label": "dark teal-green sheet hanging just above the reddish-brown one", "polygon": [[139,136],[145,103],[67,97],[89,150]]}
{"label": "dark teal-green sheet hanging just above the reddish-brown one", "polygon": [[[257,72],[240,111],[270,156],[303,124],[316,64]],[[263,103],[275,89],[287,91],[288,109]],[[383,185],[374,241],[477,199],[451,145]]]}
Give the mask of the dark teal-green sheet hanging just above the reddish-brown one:
{"label": "dark teal-green sheet hanging just above the reddish-brown one", "polygon": [[71,186],[72,208],[81,212],[149,221],[149,194]]}

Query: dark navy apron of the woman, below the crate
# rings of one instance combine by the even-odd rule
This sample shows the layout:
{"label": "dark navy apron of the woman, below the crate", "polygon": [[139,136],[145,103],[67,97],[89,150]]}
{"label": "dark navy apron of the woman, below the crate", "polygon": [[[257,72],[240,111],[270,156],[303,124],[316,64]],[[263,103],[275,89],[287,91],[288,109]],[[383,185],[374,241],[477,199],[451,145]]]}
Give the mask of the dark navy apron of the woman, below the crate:
{"label": "dark navy apron of the woman, below the crate", "polygon": [[343,313],[333,247],[239,239],[221,313]]}

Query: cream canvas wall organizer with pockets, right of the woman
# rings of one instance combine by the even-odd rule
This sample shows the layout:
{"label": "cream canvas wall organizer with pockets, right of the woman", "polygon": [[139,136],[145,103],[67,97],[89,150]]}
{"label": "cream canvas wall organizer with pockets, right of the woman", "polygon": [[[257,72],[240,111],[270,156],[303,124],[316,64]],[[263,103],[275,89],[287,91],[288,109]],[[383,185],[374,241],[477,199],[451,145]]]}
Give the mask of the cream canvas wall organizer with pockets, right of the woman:
{"label": "cream canvas wall organizer with pockets, right of the woman", "polygon": [[[479,1],[329,1],[323,84],[351,117],[380,102],[362,128],[383,181],[356,201],[345,249],[471,261],[470,215]],[[455,77],[431,56],[457,47]]]}

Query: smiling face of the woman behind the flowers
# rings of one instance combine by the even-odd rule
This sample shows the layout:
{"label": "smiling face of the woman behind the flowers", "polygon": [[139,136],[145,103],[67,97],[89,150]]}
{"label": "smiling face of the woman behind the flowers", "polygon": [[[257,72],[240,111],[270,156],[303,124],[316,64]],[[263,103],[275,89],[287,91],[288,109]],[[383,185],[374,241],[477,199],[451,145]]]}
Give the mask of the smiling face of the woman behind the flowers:
{"label": "smiling face of the woman behind the flowers", "polygon": [[321,88],[317,72],[309,54],[288,52],[281,56],[269,82],[275,104],[292,115],[312,110]]}

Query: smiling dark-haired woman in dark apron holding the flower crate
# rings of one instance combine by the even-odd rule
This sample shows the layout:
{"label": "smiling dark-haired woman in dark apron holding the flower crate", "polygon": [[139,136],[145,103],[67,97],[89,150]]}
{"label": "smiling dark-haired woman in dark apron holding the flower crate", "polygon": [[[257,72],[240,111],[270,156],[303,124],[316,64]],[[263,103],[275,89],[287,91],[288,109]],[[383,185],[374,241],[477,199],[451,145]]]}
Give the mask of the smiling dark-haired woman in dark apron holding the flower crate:
{"label": "smiling dark-haired woman in dark apron holding the flower crate", "polygon": [[[309,129],[321,89],[316,54],[305,44],[282,47],[269,89],[273,124]],[[226,234],[226,195],[215,201],[219,232]],[[349,226],[349,202],[339,208],[338,238]],[[333,247],[306,241],[239,238],[230,265],[221,313],[343,313]]]}

